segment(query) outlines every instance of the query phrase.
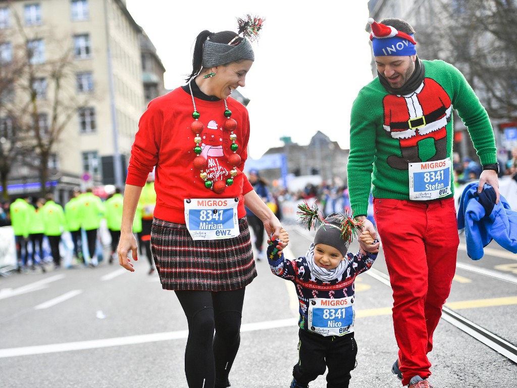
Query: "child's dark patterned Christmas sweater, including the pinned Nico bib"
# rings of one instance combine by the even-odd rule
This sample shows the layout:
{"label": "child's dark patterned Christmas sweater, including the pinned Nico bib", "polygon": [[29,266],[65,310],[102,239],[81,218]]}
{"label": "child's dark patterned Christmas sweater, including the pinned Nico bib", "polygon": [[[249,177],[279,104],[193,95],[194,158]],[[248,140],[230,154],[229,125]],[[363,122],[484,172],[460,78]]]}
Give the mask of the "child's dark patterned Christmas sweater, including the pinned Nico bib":
{"label": "child's dark patterned Christmas sweater, including the pinned Nico bib", "polygon": [[343,275],[338,279],[323,281],[310,272],[306,257],[291,261],[276,254],[272,259],[274,245],[267,248],[271,272],[295,283],[300,303],[300,329],[323,336],[341,336],[354,331],[355,292],[354,280],[367,271],[377,258],[377,253],[361,252],[354,256],[347,253]]}

